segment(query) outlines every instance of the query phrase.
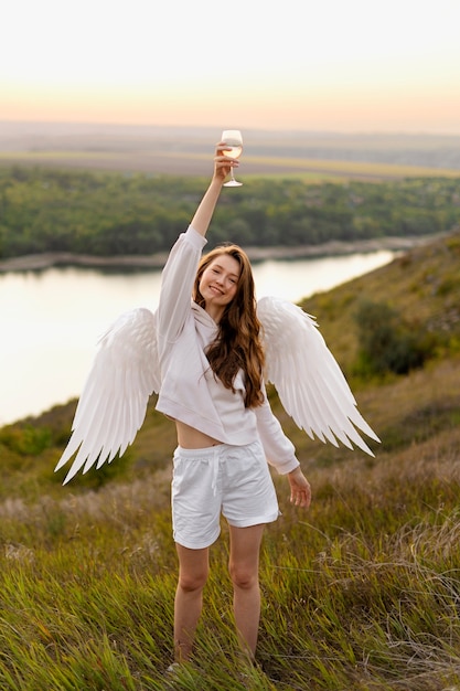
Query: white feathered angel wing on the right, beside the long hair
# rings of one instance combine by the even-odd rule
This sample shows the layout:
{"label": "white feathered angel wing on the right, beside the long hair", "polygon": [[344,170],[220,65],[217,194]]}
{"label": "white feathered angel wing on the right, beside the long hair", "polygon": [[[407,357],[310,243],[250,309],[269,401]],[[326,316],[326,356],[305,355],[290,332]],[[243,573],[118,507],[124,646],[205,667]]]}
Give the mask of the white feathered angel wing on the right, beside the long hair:
{"label": "white feathered angel wing on the right, beside the long hair", "polygon": [[266,379],[288,415],[314,439],[349,448],[351,442],[374,456],[355,427],[379,442],[356,408],[350,386],[321,336],[314,317],[286,300],[264,297],[257,315],[263,325]]}

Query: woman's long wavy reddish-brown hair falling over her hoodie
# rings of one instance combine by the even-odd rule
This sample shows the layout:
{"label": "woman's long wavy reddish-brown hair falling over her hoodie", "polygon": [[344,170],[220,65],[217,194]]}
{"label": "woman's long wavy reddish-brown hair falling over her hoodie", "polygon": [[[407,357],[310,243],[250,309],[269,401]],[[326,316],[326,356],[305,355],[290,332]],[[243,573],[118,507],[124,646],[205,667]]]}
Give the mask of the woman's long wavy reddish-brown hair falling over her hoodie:
{"label": "woman's long wavy reddish-brown hair falling over her hoodie", "polygon": [[218,323],[218,333],[206,357],[211,369],[224,386],[235,392],[234,381],[239,369],[245,376],[245,406],[257,407],[264,402],[264,349],[260,342],[260,322],[256,311],[253,269],[247,254],[238,245],[220,245],[205,254],[199,265],[193,287],[193,299],[201,307],[205,300],[200,293],[203,272],[222,255],[234,257],[239,264],[239,278],[233,300],[225,307]]}

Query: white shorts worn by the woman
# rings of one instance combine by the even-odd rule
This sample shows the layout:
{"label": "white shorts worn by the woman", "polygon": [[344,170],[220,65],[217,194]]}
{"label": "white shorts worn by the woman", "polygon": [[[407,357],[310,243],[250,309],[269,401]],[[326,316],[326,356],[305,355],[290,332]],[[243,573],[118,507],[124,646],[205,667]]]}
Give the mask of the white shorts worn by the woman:
{"label": "white shorts worn by the woman", "polygon": [[200,449],[178,447],[171,495],[174,541],[191,550],[215,542],[221,532],[221,511],[235,528],[270,523],[279,515],[259,442]]}

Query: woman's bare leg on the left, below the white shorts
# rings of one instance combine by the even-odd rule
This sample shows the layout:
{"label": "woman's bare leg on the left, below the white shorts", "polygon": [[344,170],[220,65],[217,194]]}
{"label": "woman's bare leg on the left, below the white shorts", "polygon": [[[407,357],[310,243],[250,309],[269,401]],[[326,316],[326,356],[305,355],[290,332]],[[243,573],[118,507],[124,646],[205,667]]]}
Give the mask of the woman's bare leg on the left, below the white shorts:
{"label": "woman's bare leg on the left, below the white shorts", "polygon": [[203,588],[208,573],[208,550],[175,545],[179,582],[174,600],[174,659],[183,662],[192,655],[196,625],[203,606]]}

